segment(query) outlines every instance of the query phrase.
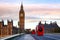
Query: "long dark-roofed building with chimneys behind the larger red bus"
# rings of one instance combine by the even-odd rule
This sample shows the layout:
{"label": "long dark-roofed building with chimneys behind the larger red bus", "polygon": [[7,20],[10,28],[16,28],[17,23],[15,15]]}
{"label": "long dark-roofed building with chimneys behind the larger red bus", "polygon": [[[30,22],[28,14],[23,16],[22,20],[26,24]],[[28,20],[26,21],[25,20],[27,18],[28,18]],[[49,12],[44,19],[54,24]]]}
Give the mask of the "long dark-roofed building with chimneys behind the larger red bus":
{"label": "long dark-roofed building with chimneys behind the larger red bus", "polygon": [[[41,21],[39,24],[42,24]],[[44,25],[44,33],[55,33],[55,29],[58,29],[59,26],[57,25],[57,22],[50,22],[50,24],[47,24],[45,21]]]}

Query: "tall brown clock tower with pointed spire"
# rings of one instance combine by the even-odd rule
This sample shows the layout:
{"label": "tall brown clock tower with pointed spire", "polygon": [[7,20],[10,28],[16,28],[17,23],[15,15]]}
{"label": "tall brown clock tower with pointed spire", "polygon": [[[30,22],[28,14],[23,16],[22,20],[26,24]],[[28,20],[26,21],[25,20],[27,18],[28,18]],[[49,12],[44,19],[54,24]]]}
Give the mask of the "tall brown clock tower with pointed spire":
{"label": "tall brown clock tower with pointed spire", "polygon": [[24,32],[24,22],[25,22],[25,12],[23,9],[23,4],[21,4],[21,8],[19,11],[19,28],[20,32]]}

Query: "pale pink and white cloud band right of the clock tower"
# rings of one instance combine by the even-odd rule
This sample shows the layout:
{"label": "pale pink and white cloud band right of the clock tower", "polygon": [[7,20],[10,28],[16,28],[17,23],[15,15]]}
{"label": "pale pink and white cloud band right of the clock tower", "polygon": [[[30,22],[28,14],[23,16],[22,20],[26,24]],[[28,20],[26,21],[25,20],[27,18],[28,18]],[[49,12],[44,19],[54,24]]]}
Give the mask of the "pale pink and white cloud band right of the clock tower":
{"label": "pale pink and white cloud band right of the clock tower", "polygon": [[26,13],[34,15],[59,14],[60,6],[58,4],[32,4],[25,7]]}

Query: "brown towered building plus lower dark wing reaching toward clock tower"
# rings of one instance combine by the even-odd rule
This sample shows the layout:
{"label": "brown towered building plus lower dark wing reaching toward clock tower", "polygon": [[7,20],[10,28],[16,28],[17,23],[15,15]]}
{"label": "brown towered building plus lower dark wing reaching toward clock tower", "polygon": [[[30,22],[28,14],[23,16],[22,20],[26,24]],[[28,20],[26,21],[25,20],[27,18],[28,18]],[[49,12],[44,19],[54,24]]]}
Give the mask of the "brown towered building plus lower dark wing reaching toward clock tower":
{"label": "brown towered building plus lower dark wing reaching toward clock tower", "polygon": [[19,28],[17,28],[17,26],[13,26],[13,20],[7,20],[7,23],[7,25],[4,25],[4,21],[0,21],[0,37],[18,34]]}

